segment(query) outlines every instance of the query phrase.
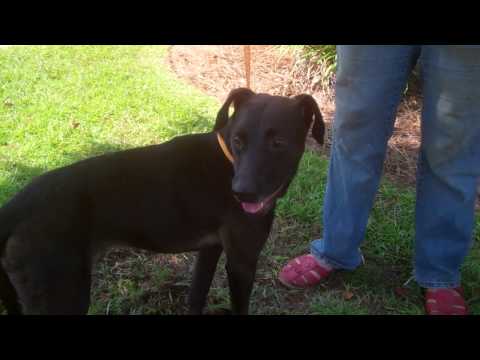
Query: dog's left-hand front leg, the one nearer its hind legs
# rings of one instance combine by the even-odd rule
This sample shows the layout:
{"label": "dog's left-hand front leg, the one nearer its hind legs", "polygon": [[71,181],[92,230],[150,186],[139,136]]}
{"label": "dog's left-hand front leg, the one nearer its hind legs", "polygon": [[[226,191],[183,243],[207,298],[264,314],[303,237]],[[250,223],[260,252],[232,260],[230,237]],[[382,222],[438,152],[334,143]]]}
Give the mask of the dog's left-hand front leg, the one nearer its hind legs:
{"label": "dog's left-hand front leg, the one nearer its hind legs", "polygon": [[189,314],[202,314],[207,301],[208,290],[212,284],[213,275],[222,251],[221,245],[214,245],[201,249],[198,252],[192,286],[188,296]]}

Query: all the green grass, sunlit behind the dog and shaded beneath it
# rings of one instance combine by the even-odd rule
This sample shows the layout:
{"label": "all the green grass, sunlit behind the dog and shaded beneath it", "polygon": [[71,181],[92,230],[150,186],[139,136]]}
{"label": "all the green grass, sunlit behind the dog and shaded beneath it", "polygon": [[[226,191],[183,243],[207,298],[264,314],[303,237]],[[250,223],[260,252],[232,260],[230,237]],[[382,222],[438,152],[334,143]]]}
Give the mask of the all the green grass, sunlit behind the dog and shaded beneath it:
{"label": "all the green grass, sunlit behind the dog and shaded beneath it", "polygon": [[[211,129],[219,107],[177,79],[166,47],[46,46],[0,50],[0,204],[32,177],[88,156],[159,143]],[[287,290],[276,276],[321,235],[327,160],[307,152],[280,201],[254,287],[253,314],[421,314],[410,277],[414,192],[383,182],[362,247],[366,265],[335,274],[307,291]],[[463,267],[471,308],[480,314],[480,218]],[[96,266],[91,314],[181,314],[195,254],[112,249]],[[228,307],[224,259],[209,309]],[[0,310],[1,311],[1,310]]]}

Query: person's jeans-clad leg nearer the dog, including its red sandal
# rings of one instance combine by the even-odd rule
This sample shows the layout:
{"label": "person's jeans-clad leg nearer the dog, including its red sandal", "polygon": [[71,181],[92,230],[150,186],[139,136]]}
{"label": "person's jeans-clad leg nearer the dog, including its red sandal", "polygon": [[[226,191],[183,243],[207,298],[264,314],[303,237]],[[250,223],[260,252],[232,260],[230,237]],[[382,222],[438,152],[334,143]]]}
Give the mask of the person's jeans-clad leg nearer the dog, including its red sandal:
{"label": "person's jeans-clad leg nearer the dog, including its red sandal", "polygon": [[[419,46],[337,46],[336,112],[324,236],[311,246],[324,268],[330,265],[352,270],[361,263],[359,246],[382,174],[387,142],[419,50]],[[325,275],[319,274],[318,268],[314,269],[316,275],[308,275],[314,264],[312,256],[296,258],[282,270],[280,280],[286,283],[298,274],[295,286],[302,281],[305,286],[314,284]]]}

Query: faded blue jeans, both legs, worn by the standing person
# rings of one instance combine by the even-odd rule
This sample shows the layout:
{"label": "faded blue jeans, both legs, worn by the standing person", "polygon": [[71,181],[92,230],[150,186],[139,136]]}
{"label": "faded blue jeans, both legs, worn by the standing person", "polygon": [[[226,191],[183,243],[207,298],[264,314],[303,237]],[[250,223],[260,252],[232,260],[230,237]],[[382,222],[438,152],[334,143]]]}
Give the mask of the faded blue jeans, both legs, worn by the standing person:
{"label": "faded blue jeans, both legs, worn by the standing person", "polygon": [[337,52],[324,233],[312,242],[312,254],[334,268],[360,265],[396,109],[419,61],[415,279],[427,288],[459,286],[480,177],[480,46],[338,46]]}

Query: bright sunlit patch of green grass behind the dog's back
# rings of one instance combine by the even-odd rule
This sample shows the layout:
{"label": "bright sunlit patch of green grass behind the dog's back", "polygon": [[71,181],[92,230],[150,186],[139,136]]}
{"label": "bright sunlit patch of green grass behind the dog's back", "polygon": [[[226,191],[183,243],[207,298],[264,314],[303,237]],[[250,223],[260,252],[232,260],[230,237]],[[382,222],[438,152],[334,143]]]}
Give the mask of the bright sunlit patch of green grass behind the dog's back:
{"label": "bright sunlit patch of green grass behind the dog's back", "polygon": [[0,52],[0,202],[32,175],[87,155],[211,127],[218,103],[166,70],[165,47]]}

